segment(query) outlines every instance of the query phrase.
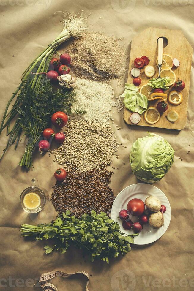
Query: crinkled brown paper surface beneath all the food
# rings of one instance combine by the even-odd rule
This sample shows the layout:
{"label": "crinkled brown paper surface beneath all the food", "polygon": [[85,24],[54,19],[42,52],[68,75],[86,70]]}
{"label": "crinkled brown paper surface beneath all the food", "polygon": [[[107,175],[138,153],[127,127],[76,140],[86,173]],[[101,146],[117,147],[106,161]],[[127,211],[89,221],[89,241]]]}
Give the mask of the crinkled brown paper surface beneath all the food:
{"label": "crinkled brown paper surface beneath all the food", "polygon": [[[130,46],[134,35],[149,26],[180,29],[193,46],[194,1],[192,0],[121,0],[120,6],[126,6],[125,8],[118,8],[119,0],[51,0],[48,6],[45,3],[45,0],[2,0],[0,3],[1,114],[12,92],[18,86],[21,73],[26,69],[26,65],[61,32],[62,15],[61,13],[54,14],[56,11],[84,10],[84,16],[91,13],[87,19],[88,29],[123,37],[122,43],[125,48]],[[177,41],[179,41],[178,35]],[[123,84],[126,79],[127,71],[123,76]],[[26,285],[22,287],[23,282],[16,281],[16,279],[21,278],[26,281],[26,279],[32,278],[37,281],[41,273],[56,269],[67,273],[79,270],[91,273],[90,291],[194,290],[193,81],[192,67],[185,129],[181,132],[152,129],[152,132],[165,137],[175,149],[173,167],[165,178],[154,184],[167,195],[171,204],[170,226],[163,237],[152,245],[134,247],[124,257],[110,260],[109,265],[102,261],[91,263],[87,258],[82,257],[81,251],[73,248],[64,255],[57,252],[45,255],[42,250],[44,242],[24,240],[20,236],[19,227],[22,223],[49,222],[55,217],[56,213],[51,204],[47,205],[38,217],[28,216],[19,205],[19,197],[22,190],[30,185],[33,177],[37,177],[39,185],[51,195],[52,186],[55,184],[53,172],[57,169],[57,164],[52,161],[52,157],[49,158],[48,155],[40,157],[37,153],[34,156],[35,169],[26,173],[17,166],[24,147],[18,147],[17,151],[14,151],[13,147],[9,149],[0,164],[0,278],[8,280],[11,276],[12,282],[1,281],[2,285],[7,282],[7,287],[1,287],[2,290],[40,290],[40,288],[34,289],[34,287]],[[123,91],[117,81],[111,83],[116,94]],[[122,113],[115,113],[114,125],[116,123],[122,129],[116,130],[115,135],[118,137],[118,141],[127,144],[127,148],[124,149],[121,146],[118,151],[119,159],[113,158],[113,165],[119,167],[119,170],[115,170],[116,173],[111,183],[115,195],[124,187],[139,182],[131,173],[128,156],[132,143],[138,137],[145,136],[147,130],[147,128],[135,128],[124,124]],[[4,143],[5,133],[0,139],[1,150],[4,148]],[[188,147],[189,144],[190,147]],[[189,154],[187,154],[188,150],[190,150]],[[178,159],[179,156],[183,158],[182,161]],[[116,273],[118,271],[119,273]],[[123,276],[124,274],[130,274],[131,281],[126,281],[127,276]],[[119,280],[120,287],[118,287]],[[149,282],[149,286],[145,282]],[[69,279],[56,278],[53,283],[56,284],[59,291],[78,291],[85,290],[86,279],[82,275],[77,275]]]}

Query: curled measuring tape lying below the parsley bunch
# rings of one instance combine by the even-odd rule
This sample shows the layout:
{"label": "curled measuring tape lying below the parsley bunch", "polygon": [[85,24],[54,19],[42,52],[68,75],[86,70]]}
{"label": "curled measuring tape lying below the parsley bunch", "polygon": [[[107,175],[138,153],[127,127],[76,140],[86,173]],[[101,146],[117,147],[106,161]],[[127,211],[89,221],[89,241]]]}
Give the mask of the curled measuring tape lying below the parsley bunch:
{"label": "curled measuring tape lying below the parsley bunch", "polygon": [[85,271],[78,271],[72,274],[67,274],[62,271],[51,271],[48,273],[44,273],[40,276],[39,284],[42,287],[42,291],[58,291],[57,287],[51,283],[48,283],[47,280],[51,280],[57,276],[62,276],[62,277],[70,277],[74,274],[83,274],[88,278],[88,281],[86,283],[86,291],[88,290],[88,284],[89,284],[89,274]]}

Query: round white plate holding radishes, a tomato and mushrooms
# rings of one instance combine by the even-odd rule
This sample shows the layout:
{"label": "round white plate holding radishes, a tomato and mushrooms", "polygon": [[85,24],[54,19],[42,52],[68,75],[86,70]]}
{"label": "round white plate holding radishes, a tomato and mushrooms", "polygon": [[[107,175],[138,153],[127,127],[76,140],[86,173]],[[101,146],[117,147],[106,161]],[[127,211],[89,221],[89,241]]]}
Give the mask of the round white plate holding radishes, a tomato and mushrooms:
{"label": "round white plate holding radishes, a tomato and mushrooms", "polygon": [[[171,221],[171,206],[166,197],[166,195],[157,187],[149,184],[133,184],[125,189],[123,189],[115,198],[111,210],[111,218],[118,222],[121,231],[126,235],[133,234],[133,230],[124,230],[122,227],[122,220],[118,218],[119,211],[122,209],[127,209],[127,203],[129,200],[133,198],[139,198],[146,200],[148,196],[155,196],[157,197],[162,205],[166,206],[166,212],[164,213],[164,226],[160,227],[159,229],[153,229],[148,224],[143,225],[143,230],[140,234],[134,238],[134,242],[136,245],[145,245],[148,243],[153,243],[157,241],[157,239],[161,238],[161,236],[166,232],[170,221]],[[132,216],[131,220],[133,222],[138,221],[137,216]]]}

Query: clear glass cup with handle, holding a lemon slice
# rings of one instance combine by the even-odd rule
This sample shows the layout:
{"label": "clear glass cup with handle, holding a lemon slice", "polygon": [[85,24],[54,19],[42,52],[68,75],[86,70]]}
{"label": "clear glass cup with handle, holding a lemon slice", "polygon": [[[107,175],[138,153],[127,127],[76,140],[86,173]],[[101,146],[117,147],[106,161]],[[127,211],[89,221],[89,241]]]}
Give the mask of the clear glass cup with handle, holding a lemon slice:
{"label": "clear glass cup with handle, holding a lemon slice", "polygon": [[[38,186],[38,180],[37,180],[37,178],[33,178],[31,180],[31,182],[32,182],[32,185],[30,187],[24,189],[23,192],[22,192],[22,194],[20,195],[20,204],[21,204],[23,210],[25,210],[26,212],[29,212],[29,213],[37,213],[37,212],[41,211],[44,208],[45,203],[46,203],[46,195],[42,191],[42,189],[40,189],[39,187],[37,187]],[[28,193],[36,193],[36,194],[39,195],[41,202],[40,202],[40,205],[37,208],[35,208],[35,209],[28,209],[24,205],[23,199],[24,199],[24,196],[26,194],[28,194]]]}

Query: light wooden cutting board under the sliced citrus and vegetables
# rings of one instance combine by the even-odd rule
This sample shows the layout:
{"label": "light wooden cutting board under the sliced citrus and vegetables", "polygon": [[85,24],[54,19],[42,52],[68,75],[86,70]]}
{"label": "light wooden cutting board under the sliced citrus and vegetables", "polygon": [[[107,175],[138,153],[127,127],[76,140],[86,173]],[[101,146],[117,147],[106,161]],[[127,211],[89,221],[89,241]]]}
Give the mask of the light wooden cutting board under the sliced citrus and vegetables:
{"label": "light wooden cutting board under the sliced citrus and vegetables", "polygon": [[[159,29],[149,27],[137,34],[131,43],[131,53],[130,53],[130,62],[129,62],[129,72],[127,83],[132,83],[133,76],[130,71],[134,67],[135,58],[143,56],[148,56],[151,60],[149,65],[154,66],[156,73],[155,78],[158,76],[158,68],[156,64],[157,60],[157,39],[159,37],[165,37],[168,40],[168,45],[163,48],[163,53],[171,55],[172,58],[177,58],[180,61],[180,66],[178,68],[172,67],[172,70],[176,74],[176,80],[184,80],[186,86],[183,91],[181,91],[183,96],[183,102],[180,105],[171,105],[168,103],[168,110],[175,109],[179,113],[179,119],[171,123],[167,120],[166,114],[168,110],[161,114],[159,121],[155,124],[148,124],[141,114],[141,121],[137,126],[150,126],[150,127],[159,127],[159,128],[168,128],[168,129],[183,129],[186,125],[187,120],[187,106],[188,106],[188,97],[189,97],[189,84],[190,84],[190,74],[191,74],[191,61],[193,48],[184,37],[182,31],[180,30],[170,30],[170,29]],[[152,78],[154,78],[152,77]],[[149,79],[144,74],[144,69],[141,69],[141,74],[139,75],[141,79],[141,85],[148,83]],[[168,92],[172,91],[172,86],[165,93],[168,95]],[[148,106],[156,106],[158,100],[149,102]],[[132,124],[130,121],[130,116],[132,112],[128,109],[124,109],[124,121],[128,124]]]}

